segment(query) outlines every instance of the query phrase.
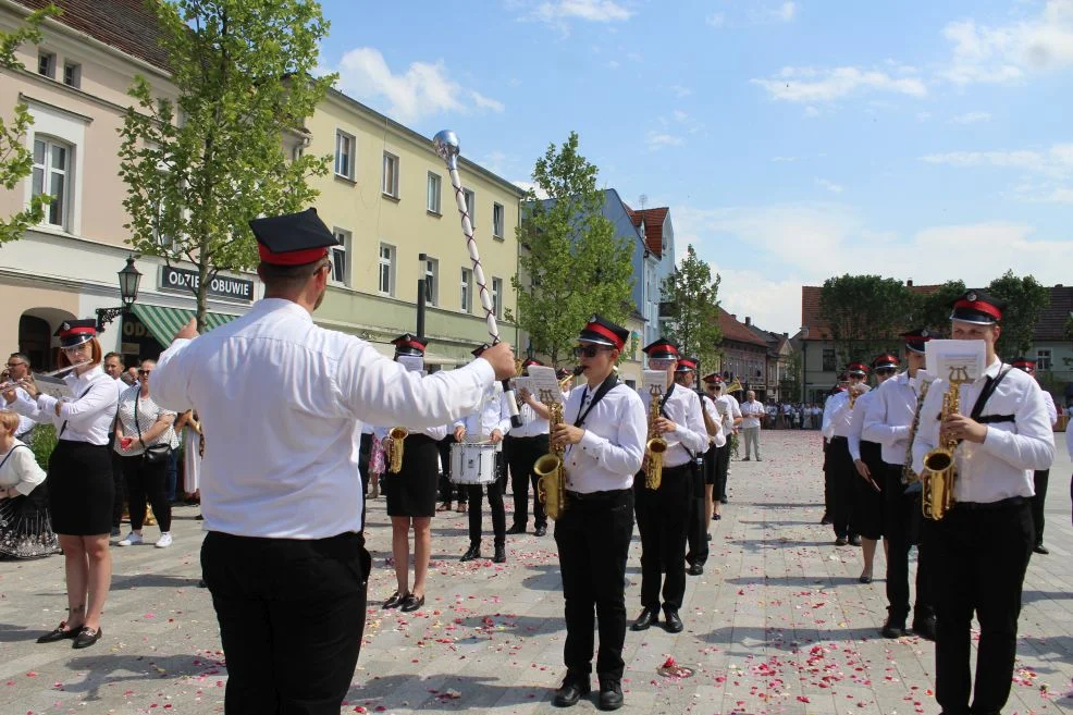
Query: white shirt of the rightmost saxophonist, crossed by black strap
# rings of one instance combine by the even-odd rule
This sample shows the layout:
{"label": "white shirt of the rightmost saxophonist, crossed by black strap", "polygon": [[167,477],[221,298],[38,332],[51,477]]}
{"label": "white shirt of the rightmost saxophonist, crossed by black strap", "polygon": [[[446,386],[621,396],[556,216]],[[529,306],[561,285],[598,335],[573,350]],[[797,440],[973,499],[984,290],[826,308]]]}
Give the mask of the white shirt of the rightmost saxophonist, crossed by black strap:
{"label": "white shirt of the rightmost saxophonist, crossed by black strap", "polygon": [[[969,415],[985,379],[1003,367],[998,359],[977,380],[961,385],[960,411]],[[936,380],[928,390],[921,411],[920,429],[913,442],[913,469],[920,473],[924,456],[939,443],[939,417],[948,383]],[[954,502],[998,502],[1011,496],[1032,496],[1032,472],[1049,469],[1054,460],[1054,433],[1047,422],[1047,409],[1036,381],[1021,370],[1010,370],[984,407],[984,415],[1011,415],[1011,422],[987,424],[983,444],[964,441],[954,449],[958,478]]]}

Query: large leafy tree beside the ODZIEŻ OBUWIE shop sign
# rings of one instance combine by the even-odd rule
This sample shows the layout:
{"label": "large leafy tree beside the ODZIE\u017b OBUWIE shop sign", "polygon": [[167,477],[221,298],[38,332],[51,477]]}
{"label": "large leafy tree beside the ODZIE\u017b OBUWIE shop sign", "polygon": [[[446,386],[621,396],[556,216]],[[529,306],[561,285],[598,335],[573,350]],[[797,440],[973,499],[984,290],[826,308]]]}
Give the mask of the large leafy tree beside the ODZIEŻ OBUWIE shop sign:
{"label": "large leafy tree beside the ODZIE\u017b OBUWIE shop sign", "polygon": [[169,263],[197,266],[197,323],[219,271],[256,266],[247,221],[297,211],[316,198],[306,181],[330,157],[297,156],[303,122],[335,75],[312,78],[329,24],[309,0],[153,2],[168,50],[172,101],[135,78],[120,175],[128,243]]}

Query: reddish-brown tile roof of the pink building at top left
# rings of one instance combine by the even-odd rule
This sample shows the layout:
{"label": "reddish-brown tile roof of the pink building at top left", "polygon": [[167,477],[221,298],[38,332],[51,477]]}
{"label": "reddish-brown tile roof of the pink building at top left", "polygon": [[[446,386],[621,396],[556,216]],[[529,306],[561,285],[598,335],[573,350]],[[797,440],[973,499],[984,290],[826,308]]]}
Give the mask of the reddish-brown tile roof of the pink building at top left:
{"label": "reddish-brown tile roof of the pink building at top left", "polygon": [[[157,15],[145,0],[51,0],[63,14],[57,17],[72,29],[89,35],[121,52],[168,70],[168,52],[157,41]],[[49,0],[15,0],[37,10]]]}

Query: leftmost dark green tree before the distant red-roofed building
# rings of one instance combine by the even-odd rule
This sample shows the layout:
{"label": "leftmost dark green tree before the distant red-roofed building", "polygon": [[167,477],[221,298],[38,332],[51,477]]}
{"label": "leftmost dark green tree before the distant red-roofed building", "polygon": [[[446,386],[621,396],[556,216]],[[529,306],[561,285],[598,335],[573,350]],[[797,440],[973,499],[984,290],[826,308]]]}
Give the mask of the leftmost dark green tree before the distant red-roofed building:
{"label": "leftmost dark green tree before the distant red-roofed building", "polygon": [[830,278],[819,292],[819,315],[830,325],[840,367],[897,345],[912,308],[910,289],[879,275]]}

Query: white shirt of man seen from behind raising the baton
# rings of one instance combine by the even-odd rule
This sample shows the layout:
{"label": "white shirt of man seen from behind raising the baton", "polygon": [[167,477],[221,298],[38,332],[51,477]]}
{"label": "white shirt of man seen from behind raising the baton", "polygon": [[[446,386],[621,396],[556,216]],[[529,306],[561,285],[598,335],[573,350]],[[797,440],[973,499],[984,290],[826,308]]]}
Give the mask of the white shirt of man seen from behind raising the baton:
{"label": "white shirt of man seen from behind raising the baton", "polygon": [[197,409],[205,528],[242,537],[324,539],[361,529],[361,423],[442,426],[472,411],[486,360],[432,375],[264,298],[242,318],[175,341],[152,371],[155,399]]}

